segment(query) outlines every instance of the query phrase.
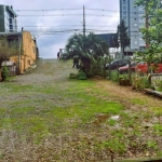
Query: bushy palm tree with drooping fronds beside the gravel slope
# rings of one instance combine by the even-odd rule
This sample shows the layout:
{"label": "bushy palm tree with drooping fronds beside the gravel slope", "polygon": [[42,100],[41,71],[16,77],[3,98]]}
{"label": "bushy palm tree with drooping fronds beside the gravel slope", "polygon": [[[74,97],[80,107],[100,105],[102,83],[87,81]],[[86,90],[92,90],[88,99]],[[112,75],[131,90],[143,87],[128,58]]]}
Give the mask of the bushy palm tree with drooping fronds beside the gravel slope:
{"label": "bushy palm tree with drooping fronds beside the gravel slope", "polygon": [[68,39],[62,59],[79,59],[79,69],[91,76],[92,65],[103,58],[105,54],[109,55],[108,50],[108,44],[93,33],[73,35]]}

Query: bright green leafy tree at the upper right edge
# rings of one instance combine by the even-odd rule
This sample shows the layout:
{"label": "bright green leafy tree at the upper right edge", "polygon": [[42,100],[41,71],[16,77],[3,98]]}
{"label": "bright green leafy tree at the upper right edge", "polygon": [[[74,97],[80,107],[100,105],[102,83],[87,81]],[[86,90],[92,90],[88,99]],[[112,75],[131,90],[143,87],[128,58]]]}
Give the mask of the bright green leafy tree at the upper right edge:
{"label": "bright green leafy tree at the upper right edge", "polygon": [[149,66],[150,63],[162,59],[162,3],[161,0],[136,0],[135,4],[144,6],[146,11],[144,17],[147,17],[149,23],[149,27],[140,28],[143,39],[149,46],[144,52],[137,53]]}

